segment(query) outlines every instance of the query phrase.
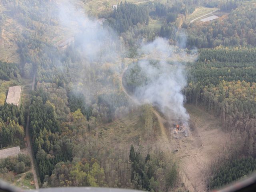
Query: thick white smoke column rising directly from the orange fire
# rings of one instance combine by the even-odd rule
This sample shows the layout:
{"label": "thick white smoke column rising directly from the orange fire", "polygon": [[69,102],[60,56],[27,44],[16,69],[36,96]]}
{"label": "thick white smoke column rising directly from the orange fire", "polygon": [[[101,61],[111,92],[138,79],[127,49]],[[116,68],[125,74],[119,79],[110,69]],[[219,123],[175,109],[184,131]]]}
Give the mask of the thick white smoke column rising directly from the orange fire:
{"label": "thick white smoke column rising directly from the orange fire", "polygon": [[[142,103],[151,103],[161,110],[168,120],[187,122],[189,115],[184,108],[183,88],[187,85],[184,68],[179,62],[196,57],[187,56],[186,52],[171,46],[166,39],[156,38],[153,42],[142,46],[143,60],[139,61],[142,73],[149,80],[146,86],[136,89],[135,96]],[[151,59],[159,64],[150,64]],[[170,64],[168,61],[174,62]]]}

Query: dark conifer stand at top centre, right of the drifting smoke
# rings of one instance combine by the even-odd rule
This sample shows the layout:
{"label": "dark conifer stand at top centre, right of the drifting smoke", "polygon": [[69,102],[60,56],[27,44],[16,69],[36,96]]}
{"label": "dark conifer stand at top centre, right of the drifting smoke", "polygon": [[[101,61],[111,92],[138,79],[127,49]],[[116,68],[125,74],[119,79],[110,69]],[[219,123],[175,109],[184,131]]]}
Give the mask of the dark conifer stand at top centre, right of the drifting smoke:
{"label": "dark conifer stand at top centre, right of the drifting smoke", "polygon": [[107,17],[107,20],[112,28],[122,33],[138,23],[148,24],[148,10],[136,4],[121,2],[118,8]]}

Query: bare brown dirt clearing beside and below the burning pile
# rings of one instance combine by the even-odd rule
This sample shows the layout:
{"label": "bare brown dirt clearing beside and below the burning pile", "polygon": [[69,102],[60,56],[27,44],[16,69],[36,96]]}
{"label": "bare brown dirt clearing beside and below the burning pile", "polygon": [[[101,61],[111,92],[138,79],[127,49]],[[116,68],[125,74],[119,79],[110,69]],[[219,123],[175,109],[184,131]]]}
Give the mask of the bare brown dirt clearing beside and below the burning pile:
{"label": "bare brown dirt clearing beside and below the burning pile", "polygon": [[186,104],[194,128],[190,128],[190,135],[183,139],[176,139],[183,170],[183,182],[189,191],[206,191],[207,172],[212,164],[222,156],[230,138],[222,131],[220,121],[202,108]]}

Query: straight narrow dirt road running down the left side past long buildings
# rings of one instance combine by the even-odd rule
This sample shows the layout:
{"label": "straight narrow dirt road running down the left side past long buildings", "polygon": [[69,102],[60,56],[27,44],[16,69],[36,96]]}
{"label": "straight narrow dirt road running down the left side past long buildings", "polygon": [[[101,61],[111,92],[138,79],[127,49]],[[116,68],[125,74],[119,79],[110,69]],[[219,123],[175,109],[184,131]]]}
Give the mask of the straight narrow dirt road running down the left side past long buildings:
{"label": "straight narrow dirt road running down the left side past long buildings", "polygon": [[[32,91],[34,90],[34,86],[35,86],[35,80],[36,80],[36,74],[34,75],[33,78],[33,82],[32,82]],[[29,108],[28,108],[28,118],[27,118],[27,124],[26,124],[26,141],[27,141],[27,153],[30,156],[31,159],[31,169],[32,169],[32,173],[34,176],[34,182],[35,182],[35,186],[36,189],[39,189],[39,185],[38,185],[38,179],[37,179],[37,175],[36,175],[36,169],[35,169],[35,163],[34,163],[34,157],[33,157],[33,151],[32,151],[32,147],[31,147],[31,141],[30,141],[30,136],[29,136]]]}

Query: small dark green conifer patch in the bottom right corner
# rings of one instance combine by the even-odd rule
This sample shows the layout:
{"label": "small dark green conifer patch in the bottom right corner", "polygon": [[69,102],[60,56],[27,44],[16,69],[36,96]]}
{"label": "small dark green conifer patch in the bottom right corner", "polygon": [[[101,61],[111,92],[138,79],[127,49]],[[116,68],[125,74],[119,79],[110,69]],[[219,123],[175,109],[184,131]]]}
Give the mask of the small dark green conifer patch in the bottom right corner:
{"label": "small dark green conifer patch in the bottom right corner", "polygon": [[208,188],[210,190],[220,188],[250,175],[254,170],[256,170],[256,160],[252,157],[226,162],[220,168],[214,169],[213,176],[209,178]]}

